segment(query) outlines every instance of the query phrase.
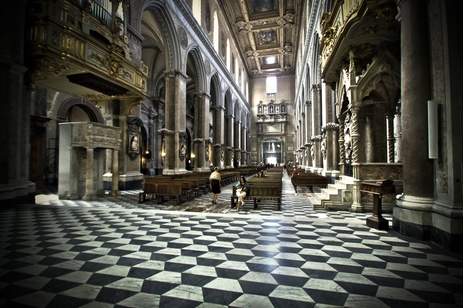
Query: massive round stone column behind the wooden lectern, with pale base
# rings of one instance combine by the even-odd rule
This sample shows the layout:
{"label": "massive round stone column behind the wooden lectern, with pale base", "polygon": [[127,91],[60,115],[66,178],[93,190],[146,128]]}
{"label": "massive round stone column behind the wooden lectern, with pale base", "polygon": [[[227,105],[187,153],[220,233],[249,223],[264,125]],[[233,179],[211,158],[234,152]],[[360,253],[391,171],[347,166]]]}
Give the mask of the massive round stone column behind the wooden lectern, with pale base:
{"label": "massive round stone column behind the wooden lectern, with pale base", "polygon": [[434,204],[434,161],[428,158],[427,101],[431,72],[426,2],[399,0],[401,14],[401,99],[403,195],[394,207],[393,228],[430,240]]}

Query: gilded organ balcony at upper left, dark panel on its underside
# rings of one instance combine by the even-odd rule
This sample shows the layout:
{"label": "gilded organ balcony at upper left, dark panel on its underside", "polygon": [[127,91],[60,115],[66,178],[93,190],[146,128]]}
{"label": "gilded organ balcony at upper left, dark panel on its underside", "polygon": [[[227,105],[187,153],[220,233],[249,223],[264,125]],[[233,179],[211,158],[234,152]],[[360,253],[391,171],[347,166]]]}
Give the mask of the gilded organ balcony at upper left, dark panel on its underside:
{"label": "gilded organ balcony at upper left, dark panel on its underside", "polygon": [[146,97],[148,68],[133,63],[123,0],[33,0],[28,4],[26,66],[31,85],[93,102]]}

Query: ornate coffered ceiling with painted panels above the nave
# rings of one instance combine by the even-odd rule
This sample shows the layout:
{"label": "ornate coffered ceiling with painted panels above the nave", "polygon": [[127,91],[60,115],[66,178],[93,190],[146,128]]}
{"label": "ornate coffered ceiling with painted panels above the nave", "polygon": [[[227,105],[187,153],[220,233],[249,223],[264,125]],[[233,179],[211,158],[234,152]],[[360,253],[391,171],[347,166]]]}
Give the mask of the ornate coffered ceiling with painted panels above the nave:
{"label": "ornate coffered ceiling with painted panels above the nave", "polygon": [[301,1],[219,0],[250,77],[294,74]]}

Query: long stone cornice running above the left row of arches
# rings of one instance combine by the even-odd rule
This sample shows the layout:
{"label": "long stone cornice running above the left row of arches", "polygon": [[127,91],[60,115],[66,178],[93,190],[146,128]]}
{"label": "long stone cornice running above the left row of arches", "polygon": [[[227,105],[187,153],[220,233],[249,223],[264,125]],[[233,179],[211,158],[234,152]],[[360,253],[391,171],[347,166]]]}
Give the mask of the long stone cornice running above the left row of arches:
{"label": "long stone cornice running above the left row of arches", "polygon": [[196,18],[194,18],[193,12],[191,12],[191,9],[188,7],[187,3],[183,0],[173,0],[173,2],[183,15],[183,18],[185,18],[185,20],[188,22],[188,25],[190,25],[190,27],[193,29],[196,36],[200,39],[201,43],[203,43],[204,47],[209,52],[209,55],[211,55],[211,57],[217,63],[222,71],[222,74],[226,76],[229,81],[229,85],[232,85],[232,87],[235,89],[235,92],[238,93],[238,96],[240,97],[243,105],[245,105],[248,111],[250,111],[249,103],[245,99],[244,94],[241,92],[240,87],[233,79],[232,74],[228,71],[228,68],[225,66],[217,51],[215,51],[213,44],[209,40],[209,37],[206,35],[206,32],[204,32],[203,28],[198,24]]}

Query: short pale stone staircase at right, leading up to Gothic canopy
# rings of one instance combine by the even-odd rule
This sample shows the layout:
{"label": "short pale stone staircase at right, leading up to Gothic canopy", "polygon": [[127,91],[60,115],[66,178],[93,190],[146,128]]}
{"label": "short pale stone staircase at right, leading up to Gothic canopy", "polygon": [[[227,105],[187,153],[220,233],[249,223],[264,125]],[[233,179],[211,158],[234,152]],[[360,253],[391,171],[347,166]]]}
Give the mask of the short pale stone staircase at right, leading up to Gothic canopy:
{"label": "short pale stone staircase at right, leading up to Gothic canopy", "polygon": [[354,185],[352,178],[335,180],[334,184],[328,184],[328,188],[322,188],[314,197],[308,197],[313,204],[313,209],[324,210],[350,210],[352,204],[352,192]]}

